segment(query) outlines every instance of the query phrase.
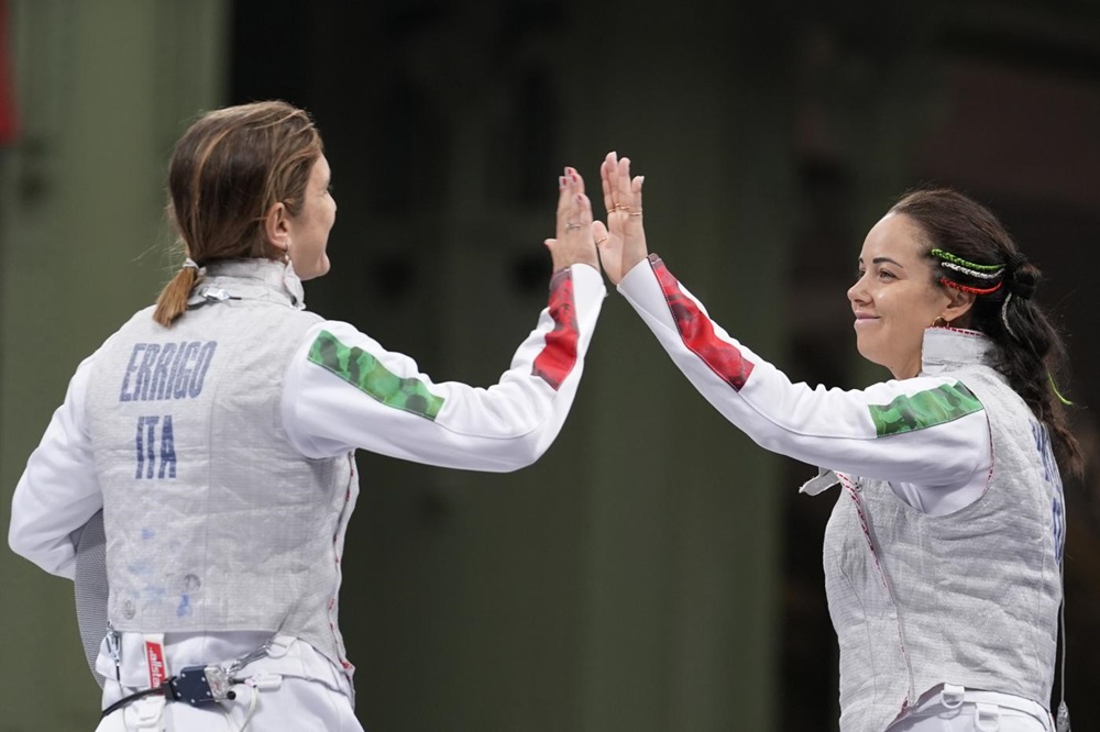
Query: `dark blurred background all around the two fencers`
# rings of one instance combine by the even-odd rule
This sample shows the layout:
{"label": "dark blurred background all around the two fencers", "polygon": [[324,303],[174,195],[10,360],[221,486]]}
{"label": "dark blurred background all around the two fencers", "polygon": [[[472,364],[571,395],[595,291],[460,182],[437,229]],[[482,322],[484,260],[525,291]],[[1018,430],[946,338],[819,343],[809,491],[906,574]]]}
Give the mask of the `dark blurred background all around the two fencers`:
{"label": "dark blurred background all around the two fencers", "polygon": [[[333,168],[311,309],[436,379],[507,367],[546,302],[557,176],[595,190],[609,149],[646,175],[651,248],[812,385],[888,376],[845,291],[891,202],[988,203],[1072,356],[1068,698],[1100,730],[1100,4],[0,0],[4,524],[73,369],[178,267],[173,142],[268,98],[314,113]],[[360,467],[341,622],[367,730],[836,729],[834,499],[799,496],[814,469],[722,420],[614,292],[539,464]],[[70,585],[0,553],[0,731],[94,729]]]}

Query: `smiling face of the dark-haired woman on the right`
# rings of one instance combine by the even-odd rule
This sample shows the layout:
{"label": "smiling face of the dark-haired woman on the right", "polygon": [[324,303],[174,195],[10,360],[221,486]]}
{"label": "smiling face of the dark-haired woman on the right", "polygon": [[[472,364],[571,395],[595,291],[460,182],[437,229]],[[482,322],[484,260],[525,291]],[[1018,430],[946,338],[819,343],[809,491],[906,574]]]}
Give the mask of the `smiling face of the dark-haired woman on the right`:
{"label": "smiling face of the dark-haired woman on the right", "polygon": [[920,373],[924,330],[950,302],[926,248],[909,217],[888,213],[864,240],[859,278],[848,289],[856,347],[898,379]]}

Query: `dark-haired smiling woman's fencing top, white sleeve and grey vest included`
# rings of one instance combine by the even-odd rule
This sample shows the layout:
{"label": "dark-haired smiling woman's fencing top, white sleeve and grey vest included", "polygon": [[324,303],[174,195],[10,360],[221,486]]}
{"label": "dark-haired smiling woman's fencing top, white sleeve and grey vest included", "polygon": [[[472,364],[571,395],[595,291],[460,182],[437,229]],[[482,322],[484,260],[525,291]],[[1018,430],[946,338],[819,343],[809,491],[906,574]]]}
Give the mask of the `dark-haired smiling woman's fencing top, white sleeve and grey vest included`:
{"label": "dark-haired smiling woman's fencing top, white sleeve and grey vest included", "polygon": [[[914,378],[811,388],[730,337],[657,255],[618,289],[750,439],[859,476],[825,540],[842,729],[884,729],[946,684],[1048,706],[1062,483],[1045,429],[988,367],[985,336],[931,329]],[[836,483],[831,472],[804,490]]]}

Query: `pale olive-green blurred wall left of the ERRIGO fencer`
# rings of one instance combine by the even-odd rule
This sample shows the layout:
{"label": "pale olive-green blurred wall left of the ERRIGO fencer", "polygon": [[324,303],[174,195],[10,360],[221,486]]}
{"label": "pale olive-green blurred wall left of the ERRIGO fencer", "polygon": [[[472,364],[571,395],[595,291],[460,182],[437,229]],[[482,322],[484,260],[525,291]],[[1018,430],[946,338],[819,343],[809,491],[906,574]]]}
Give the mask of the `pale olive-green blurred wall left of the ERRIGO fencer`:
{"label": "pale olive-green blurred wall left of the ERRIGO fencer", "polygon": [[[222,0],[9,0],[0,149],[0,524],[81,358],[160,288],[170,145],[224,82]],[[174,263],[173,263],[174,264]],[[0,730],[95,729],[72,583],[0,551]]]}

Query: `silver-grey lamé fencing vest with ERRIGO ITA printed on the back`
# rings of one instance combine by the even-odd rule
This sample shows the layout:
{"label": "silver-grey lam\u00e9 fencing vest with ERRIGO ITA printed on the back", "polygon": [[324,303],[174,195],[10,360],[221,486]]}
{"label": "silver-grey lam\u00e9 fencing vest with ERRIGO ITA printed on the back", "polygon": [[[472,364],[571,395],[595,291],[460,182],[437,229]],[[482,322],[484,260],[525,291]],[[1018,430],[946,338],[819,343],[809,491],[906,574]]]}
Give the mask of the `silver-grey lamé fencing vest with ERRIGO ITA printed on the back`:
{"label": "silver-grey lam\u00e9 fencing vest with ERRIGO ITA printed on the back", "polygon": [[210,269],[199,291],[240,299],[170,329],[143,310],[97,356],[108,615],[120,631],[278,631],[350,669],[337,595],[352,455],[307,459],[280,417],[289,361],[320,319],[292,306],[280,265]]}

